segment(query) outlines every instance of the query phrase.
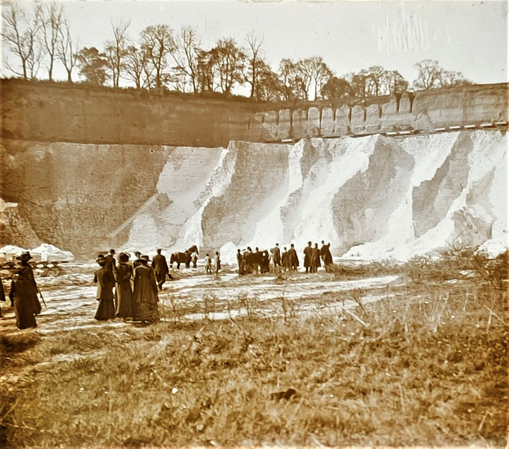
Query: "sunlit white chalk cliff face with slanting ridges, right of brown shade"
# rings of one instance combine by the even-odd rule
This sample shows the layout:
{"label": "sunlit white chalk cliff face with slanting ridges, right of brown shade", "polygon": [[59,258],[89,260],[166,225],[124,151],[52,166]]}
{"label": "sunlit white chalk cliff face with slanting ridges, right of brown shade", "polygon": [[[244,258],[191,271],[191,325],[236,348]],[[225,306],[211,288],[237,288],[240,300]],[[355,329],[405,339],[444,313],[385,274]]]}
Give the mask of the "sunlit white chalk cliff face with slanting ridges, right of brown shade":
{"label": "sunlit white chalk cliff face with slanting ridges, right of brown shade", "polygon": [[[406,260],[447,245],[508,245],[507,139],[498,131],[231,142],[175,148],[124,250],[269,249]],[[203,251],[202,251],[203,252]]]}

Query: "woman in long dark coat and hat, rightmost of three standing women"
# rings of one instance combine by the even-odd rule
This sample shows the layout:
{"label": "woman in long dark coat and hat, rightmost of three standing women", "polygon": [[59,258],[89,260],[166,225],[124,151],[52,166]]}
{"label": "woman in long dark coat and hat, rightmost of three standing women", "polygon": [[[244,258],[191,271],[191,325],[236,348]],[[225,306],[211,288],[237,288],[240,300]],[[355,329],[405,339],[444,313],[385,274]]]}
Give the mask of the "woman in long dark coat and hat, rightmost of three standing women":
{"label": "woman in long dark coat and hat, rightmost of three standing women", "polygon": [[155,322],[159,319],[158,286],[156,272],[148,266],[148,261],[147,255],[136,260],[139,265],[134,269],[134,304],[136,320]]}

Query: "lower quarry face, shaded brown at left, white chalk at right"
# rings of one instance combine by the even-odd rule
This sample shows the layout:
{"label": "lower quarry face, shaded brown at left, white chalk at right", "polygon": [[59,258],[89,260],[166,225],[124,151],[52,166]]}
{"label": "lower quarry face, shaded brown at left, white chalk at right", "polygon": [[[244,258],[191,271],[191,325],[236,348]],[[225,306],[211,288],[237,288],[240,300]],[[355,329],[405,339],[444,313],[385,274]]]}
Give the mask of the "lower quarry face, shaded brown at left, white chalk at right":
{"label": "lower quarry face, shaded brown at left, white chalk at right", "polygon": [[231,141],[227,148],[4,140],[4,244],[95,251],[220,250],[321,240],[335,256],[406,260],[508,246],[507,137]]}

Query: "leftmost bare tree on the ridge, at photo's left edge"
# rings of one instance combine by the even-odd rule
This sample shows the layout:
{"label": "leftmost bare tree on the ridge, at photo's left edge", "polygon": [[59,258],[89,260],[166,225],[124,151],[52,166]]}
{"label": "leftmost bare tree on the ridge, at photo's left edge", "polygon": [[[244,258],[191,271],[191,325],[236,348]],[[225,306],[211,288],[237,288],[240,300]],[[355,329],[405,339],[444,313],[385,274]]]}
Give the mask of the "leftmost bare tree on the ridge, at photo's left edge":
{"label": "leftmost bare tree on the ridge, at photo's left edge", "polygon": [[9,8],[4,9],[3,19],[1,37],[11,53],[19,59],[18,67],[6,60],[7,69],[25,79],[35,78],[42,58],[38,37],[40,23],[37,20],[29,21],[25,11],[15,1],[11,2]]}

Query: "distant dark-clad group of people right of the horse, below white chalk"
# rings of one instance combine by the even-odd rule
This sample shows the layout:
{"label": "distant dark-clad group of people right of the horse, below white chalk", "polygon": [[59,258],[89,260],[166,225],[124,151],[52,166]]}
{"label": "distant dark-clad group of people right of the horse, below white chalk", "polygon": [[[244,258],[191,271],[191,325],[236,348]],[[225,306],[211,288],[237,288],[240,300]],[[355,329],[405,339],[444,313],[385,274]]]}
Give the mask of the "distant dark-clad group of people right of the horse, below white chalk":
{"label": "distant dark-clad group of people right of the horse, below white chalk", "polygon": [[[271,248],[270,254],[269,251],[260,251],[257,247],[254,251],[250,247],[247,247],[244,252],[238,249],[237,263],[239,274],[258,272],[258,269],[260,272],[266,273],[270,271],[271,267],[274,272],[293,272],[298,271],[299,267],[298,255],[293,243],[291,243],[290,249],[283,247],[283,252],[281,252],[279,243],[276,243],[276,246]],[[316,273],[322,264],[325,271],[332,271],[330,243],[326,245],[322,240],[322,247],[319,249],[317,243],[313,247],[312,243],[308,242],[308,246],[304,249],[305,272]]]}

